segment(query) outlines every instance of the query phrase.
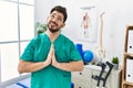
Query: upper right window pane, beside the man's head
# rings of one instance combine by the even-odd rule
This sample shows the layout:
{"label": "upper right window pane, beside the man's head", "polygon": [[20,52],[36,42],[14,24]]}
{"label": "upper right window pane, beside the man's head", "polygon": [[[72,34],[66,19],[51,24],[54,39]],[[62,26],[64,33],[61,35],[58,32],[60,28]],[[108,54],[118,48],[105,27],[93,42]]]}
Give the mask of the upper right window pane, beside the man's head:
{"label": "upper right window pane, beside the man's head", "polygon": [[30,40],[33,37],[33,13],[34,9],[30,6],[20,4],[20,40]]}

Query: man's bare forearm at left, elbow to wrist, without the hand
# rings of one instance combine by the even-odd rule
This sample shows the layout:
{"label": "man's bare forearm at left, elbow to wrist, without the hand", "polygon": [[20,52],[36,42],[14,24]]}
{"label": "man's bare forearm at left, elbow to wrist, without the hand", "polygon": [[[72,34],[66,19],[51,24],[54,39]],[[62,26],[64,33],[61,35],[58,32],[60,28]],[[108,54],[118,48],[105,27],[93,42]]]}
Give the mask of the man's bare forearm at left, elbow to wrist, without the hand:
{"label": "man's bare forearm at left, elbow to wrist, without the hand", "polygon": [[32,72],[40,70],[44,68],[45,66],[48,66],[47,62],[32,63],[32,62],[20,61],[19,66],[18,66],[18,72],[20,74],[32,73]]}

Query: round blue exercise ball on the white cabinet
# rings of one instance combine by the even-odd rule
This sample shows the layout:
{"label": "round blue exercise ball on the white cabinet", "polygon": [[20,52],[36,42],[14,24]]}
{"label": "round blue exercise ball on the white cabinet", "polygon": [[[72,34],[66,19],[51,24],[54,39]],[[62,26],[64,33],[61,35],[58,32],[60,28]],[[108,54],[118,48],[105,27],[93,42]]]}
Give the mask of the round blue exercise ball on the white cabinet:
{"label": "round blue exercise ball on the white cabinet", "polygon": [[93,57],[94,57],[94,55],[91,51],[83,52],[83,62],[90,63],[90,62],[92,62]]}

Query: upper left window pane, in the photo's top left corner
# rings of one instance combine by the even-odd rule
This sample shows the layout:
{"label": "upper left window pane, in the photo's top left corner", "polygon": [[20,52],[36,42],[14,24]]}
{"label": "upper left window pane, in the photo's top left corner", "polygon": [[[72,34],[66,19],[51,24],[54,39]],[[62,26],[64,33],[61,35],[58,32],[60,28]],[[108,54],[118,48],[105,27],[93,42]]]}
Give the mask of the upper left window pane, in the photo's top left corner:
{"label": "upper left window pane, in the photo's top left corner", "polygon": [[18,4],[0,1],[0,42],[18,41]]}

